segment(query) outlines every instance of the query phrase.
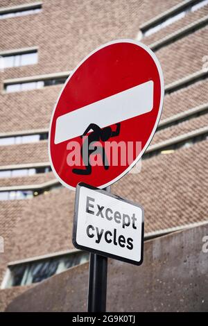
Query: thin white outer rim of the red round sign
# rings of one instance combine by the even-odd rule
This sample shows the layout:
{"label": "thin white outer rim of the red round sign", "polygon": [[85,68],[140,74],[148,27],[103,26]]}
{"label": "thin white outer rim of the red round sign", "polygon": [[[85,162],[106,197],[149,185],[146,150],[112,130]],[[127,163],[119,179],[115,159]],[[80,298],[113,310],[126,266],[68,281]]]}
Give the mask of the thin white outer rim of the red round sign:
{"label": "thin white outer rim of the red round sign", "polygon": [[53,113],[52,113],[52,116],[51,116],[51,121],[50,121],[50,126],[49,126],[49,146],[48,146],[48,151],[49,151],[49,160],[50,160],[50,163],[51,163],[51,169],[55,175],[56,178],[58,178],[58,180],[62,183],[62,185],[64,187],[67,187],[68,189],[71,189],[71,190],[75,190],[76,188],[75,187],[71,187],[70,185],[67,185],[66,182],[64,182],[60,176],[58,175],[58,173],[55,171],[55,168],[53,166],[53,162],[52,162],[52,159],[51,159],[51,151],[50,151],[50,147],[51,147],[51,126],[52,126],[52,121],[53,121],[53,116],[55,114],[55,109],[58,105],[58,101],[60,99],[60,96],[64,90],[64,87],[67,85],[67,83],[69,83],[69,80],[70,78],[73,76],[73,74],[76,72],[76,70],[80,67],[80,65],[83,64],[83,62],[85,62],[85,60],[87,60],[91,55],[93,55],[94,53],[96,53],[97,51],[103,49],[104,47],[106,46],[109,46],[111,44],[116,44],[116,43],[131,43],[131,44],[136,44],[137,46],[141,46],[141,48],[143,48],[144,50],[146,50],[149,55],[153,58],[153,60],[155,61],[155,65],[157,66],[157,70],[158,70],[158,73],[159,73],[159,79],[160,79],[160,83],[161,83],[161,98],[160,98],[160,105],[159,105],[159,111],[158,111],[158,114],[157,114],[157,119],[155,121],[155,126],[153,128],[153,131],[151,132],[150,134],[150,137],[148,138],[148,141],[146,142],[146,145],[144,146],[143,150],[141,151],[141,153],[139,153],[139,155],[137,156],[136,160],[134,162],[132,162],[132,164],[130,164],[130,166],[128,166],[128,169],[125,169],[125,171],[123,171],[123,173],[121,173],[117,178],[114,178],[114,180],[111,180],[110,182],[107,182],[105,185],[101,185],[99,186],[99,188],[105,188],[105,187],[109,187],[110,185],[112,185],[114,182],[118,181],[120,178],[123,177],[123,175],[125,175],[126,173],[128,173],[128,171],[130,171],[130,169],[132,169],[133,166],[135,166],[135,164],[137,164],[137,162],[139,161],[139,159],[141,158],[141,156],[144,154],[144,152],[146,151],[146,148],[148,148],[148,145],[150,144],[150,141],[151,139],[153,138],[153,135],[155,134],[155,130],[157,128],[157,125],[159,123],[159,119],[161,117],[161,114],[162,114],[162,106],[163,106],[163,100],[164,100],[164,77],[163,77],[163,73],[162,73],[162,68],[159,64],[159,60],[157,59],[155,53],[153,53],[153,51],[148,47],[146,46],[145,44],[137,41],[137,40],[128,40],[128,39],[124,39],[124,40],[114,40],[112,42],[108,42],[106,44],[103,44],[101,46],[99,46],[96,50],[92,51],[91,53],[89,53],[89,55],[87,55],[87,57],[85,57],[79,64],[78,66],[73,70],[71,71],[71,74],[69,76],[69,78],[67,78],[66,82],[64,83],[64,86],[62,87],[62,90],[58,96],[58,99],[55,103],[55,107],[53,109]]}

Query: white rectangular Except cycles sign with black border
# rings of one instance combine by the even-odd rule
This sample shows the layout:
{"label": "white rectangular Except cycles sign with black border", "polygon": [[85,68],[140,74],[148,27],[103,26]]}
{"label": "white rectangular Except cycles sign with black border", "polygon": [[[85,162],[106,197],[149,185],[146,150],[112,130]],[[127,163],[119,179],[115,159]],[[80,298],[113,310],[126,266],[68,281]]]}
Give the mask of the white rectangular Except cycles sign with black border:
{"label": "white rectangular Except cycles sign with black border", "polygon": [[131,264],[143,261],[144,209],[80,183],[76,189],[73,245]]}

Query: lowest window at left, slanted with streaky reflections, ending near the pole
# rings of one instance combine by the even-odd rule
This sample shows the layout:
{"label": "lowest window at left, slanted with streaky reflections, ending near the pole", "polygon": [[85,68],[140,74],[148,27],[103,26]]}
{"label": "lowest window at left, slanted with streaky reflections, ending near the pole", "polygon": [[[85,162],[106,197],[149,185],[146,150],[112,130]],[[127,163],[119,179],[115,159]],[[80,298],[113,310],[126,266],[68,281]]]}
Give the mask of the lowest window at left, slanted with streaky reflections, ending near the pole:
{"label": "lowest window at left, slanted with streaky reflections, ending near the pole", "polygon": [[3,281],[3,288],[42,282],[53,275],[67,271],[67,269],[84,264],[87,261],[89,261],[88,252],[78,251],[58,257],[9,266],[9,273],[7,273],[7,279]]}

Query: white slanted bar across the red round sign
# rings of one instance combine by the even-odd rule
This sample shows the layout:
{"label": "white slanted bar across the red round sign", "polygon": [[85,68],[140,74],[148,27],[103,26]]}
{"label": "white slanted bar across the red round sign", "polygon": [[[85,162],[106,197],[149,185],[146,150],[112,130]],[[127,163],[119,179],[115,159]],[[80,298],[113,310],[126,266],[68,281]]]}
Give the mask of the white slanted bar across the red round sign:
{"label": "white slanted bar across the red round sign", "polygon": [[58,117],[55,144],[83,135],[90,123],[100,128],[153,110],[153,80]]}

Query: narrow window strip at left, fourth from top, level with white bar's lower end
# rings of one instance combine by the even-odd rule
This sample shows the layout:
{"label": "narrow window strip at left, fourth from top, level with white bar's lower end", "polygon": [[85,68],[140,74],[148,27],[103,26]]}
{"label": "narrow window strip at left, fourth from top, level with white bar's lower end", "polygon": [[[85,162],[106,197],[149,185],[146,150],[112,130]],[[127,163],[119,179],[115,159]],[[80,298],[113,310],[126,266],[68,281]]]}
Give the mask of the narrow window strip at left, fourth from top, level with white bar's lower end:
{"label": "narrow window strip at left, fourth from top, level with white bar's lower end", "polygon": [[35,134],[35,135],[1,137],[0,146],[36,143],[37,141],[47,140],[48,138],[49,138],[48,132],[42,132],[41,134]]}

